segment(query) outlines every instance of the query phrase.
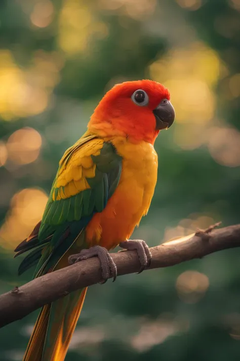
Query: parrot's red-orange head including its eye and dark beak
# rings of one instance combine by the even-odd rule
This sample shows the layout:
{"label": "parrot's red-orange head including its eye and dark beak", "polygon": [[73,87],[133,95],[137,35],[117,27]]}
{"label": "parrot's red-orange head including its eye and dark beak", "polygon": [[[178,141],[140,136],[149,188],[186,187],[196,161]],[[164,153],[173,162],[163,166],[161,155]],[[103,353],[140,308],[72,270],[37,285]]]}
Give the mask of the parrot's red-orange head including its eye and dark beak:
{"label": "parrot's red-orange head including its eye and dark beak", "polygon": [[162,84],[138,80],[115,85],[91,117],[89,129],[103,137],[124,136],[153,143],[159,130],[169,128],[175,113]]}

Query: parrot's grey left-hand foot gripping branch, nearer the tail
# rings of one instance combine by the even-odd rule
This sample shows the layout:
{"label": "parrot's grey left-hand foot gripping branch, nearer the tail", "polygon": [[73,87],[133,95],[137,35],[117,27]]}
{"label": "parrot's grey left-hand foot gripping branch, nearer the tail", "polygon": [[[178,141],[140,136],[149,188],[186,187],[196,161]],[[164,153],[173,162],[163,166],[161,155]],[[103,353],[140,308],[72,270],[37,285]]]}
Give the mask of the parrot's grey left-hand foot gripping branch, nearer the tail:
{"label": "parrot's grey left-hand foot gripping branch, nearer the tail", "polygon": [[102,280],[100,283],[105,283],[108,278],[113,277],[113,282],[117,276],[116,265],[113,262],[112,257],[108,253],[107,249],[101,246],[93,246],[89,249],[83,249],[80,253],[73,254],[68,257],[70,265],[79,262],[84,259],[98,257],[102,268]]}

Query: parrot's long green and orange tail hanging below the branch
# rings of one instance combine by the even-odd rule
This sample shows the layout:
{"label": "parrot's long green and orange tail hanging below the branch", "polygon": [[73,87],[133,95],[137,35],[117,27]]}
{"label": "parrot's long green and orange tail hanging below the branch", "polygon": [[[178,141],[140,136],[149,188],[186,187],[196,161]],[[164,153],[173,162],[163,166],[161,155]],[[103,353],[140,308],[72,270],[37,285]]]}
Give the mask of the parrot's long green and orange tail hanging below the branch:
{"label": "parrot's long green and orange tail hanging below the branch", "polygon": [[77,290],[42,308],[23,361],[64,360],[86,292],[87,288]]}

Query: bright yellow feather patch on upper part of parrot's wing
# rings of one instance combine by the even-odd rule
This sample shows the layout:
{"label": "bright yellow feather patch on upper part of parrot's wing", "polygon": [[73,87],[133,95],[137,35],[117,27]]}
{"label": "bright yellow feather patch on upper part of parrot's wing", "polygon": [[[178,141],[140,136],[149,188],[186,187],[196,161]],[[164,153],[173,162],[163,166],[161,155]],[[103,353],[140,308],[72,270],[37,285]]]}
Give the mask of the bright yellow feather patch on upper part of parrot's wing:
{"label": "bright yellow feather patch on upper part of parrot's wing", "polygon": [[59,163],[53,201],[69,198],[90,188],[86,178],[95,177],[96,170],[96,165],[91,156],[99,155],[102,146],[103,140],[99,138],[93,138],[86,143],[79,140],[65,152]]}

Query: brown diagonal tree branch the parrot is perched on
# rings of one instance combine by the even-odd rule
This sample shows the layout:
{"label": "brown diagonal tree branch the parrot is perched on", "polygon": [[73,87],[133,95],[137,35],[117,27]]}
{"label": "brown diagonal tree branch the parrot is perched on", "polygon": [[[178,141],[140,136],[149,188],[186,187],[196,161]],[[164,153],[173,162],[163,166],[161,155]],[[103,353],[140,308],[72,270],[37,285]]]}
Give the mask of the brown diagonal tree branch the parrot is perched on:
{"label": "brown diagonal tree branch the parrot is perched on", "polygon": [[[213,252],[240,246],[240,224],[214,229],[217,225],[219,224],[151,248],[152,262],[148,269],[174,266]],[[134,251],[113,253],[112,258],[117,266],[118,276],[139,270],[139,260]],[[91,258],[16,287],[0,296],[0,327],[23,318],[69,292],[98,283],[100,279],[99,260]]]}

